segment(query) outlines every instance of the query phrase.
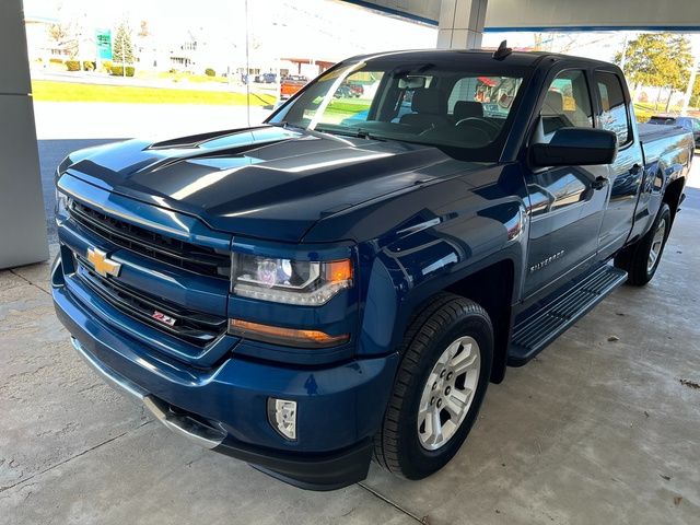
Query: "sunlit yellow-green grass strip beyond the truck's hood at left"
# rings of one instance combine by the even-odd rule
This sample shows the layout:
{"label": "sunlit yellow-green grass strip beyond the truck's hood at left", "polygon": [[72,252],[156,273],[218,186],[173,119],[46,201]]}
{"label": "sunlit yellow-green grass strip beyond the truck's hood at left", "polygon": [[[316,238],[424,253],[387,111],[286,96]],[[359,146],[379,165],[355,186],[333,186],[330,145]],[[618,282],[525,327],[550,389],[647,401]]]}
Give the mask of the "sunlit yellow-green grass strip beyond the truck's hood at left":
{"label": "sunlit yellow-green grass strip beyond the truck's hood at left", "polygon": [[[36,80],[32,82],[35,101],[50,102],[120,102],[131,104],[222,104],[245,105],[246,95],[202,90],[137,88],[132,85],[78,84]],[[250,94],[250,105],[275,104],[268,94]]]}

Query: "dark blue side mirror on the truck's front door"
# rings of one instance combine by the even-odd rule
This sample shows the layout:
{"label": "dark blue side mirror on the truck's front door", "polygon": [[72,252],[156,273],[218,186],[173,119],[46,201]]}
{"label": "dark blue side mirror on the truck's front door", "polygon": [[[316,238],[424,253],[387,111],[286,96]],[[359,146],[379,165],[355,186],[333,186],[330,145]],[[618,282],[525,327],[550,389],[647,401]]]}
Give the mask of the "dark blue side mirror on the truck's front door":
{"label": "dark blue side mirror on the truck's front door", "polygon": [[532,144],[536,166],[590,166],[610,164],[617,155],[617,135],[605,129],[561,128],[549,143]]}

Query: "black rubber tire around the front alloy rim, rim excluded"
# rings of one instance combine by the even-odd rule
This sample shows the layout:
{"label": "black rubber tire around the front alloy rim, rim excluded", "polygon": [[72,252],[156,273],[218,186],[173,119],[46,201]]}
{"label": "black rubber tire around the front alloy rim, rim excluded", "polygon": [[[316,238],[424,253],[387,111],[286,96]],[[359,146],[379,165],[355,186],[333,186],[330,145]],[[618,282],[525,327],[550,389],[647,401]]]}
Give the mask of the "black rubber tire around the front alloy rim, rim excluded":
{"label": "black rubber tire around the front alloy rim, rim excluded", "polygon": [[[480,366],[471,405],[454,435],[440,448],[420,443],[418,408],[423,387],[438,359],[456,339],[469,336],[479,346]],[[382,429],[374,439],[374,459],[386,470],[421,479],[444,467],[471,430],[486,394],[493,361],[493,328],[489,315],[474,301],[440,293],[409,326],[402,359]]]}

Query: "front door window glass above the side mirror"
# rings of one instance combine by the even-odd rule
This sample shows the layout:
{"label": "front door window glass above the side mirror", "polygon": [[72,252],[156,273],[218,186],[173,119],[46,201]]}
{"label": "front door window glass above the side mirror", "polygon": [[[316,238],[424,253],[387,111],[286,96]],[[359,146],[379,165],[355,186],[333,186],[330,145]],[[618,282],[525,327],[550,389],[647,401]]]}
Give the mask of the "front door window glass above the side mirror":
{"label": "front door window glass above the side mirror", "polygon": [[572,69],[557,75],[547,89],[540,115],[542,131],[548,139],[560,128],[593,127],[591,94],[582,70]]}

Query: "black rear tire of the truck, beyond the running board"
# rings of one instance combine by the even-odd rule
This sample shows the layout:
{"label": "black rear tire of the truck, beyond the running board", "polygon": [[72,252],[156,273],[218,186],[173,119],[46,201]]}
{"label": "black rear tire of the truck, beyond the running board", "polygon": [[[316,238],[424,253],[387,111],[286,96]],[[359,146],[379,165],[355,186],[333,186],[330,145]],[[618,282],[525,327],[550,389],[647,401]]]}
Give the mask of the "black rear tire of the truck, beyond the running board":
{"label": "black rear tire of the truck, beyond the running board", "polygon": [[[660,226],[663,223],[664,235],[663,242],[661,245],[661,249],[658,250],[658,255],[653,266],[649,266],[650,254],[652,252],[652,246],[654,245],[654,235],[658,231]],[[666,246],[666,240],[668,238],[668,233],[670,232],[670,208],[665,202],[662,203],[658,213],[656,214],[656,219],[654,219],[654,223],[652,228],[644,234],[642,238],[637,241],[631,246],[627,246],[622,252],[615,256],[615,266],[626,270],[628,273],[627,283],[632,284],[634,287],[643,287],[649,281],[652,280],[654,273],[656,273],[656,268],[658,268],[658,262],[661,261],[661,257],[664,253],[664,247]]]}

